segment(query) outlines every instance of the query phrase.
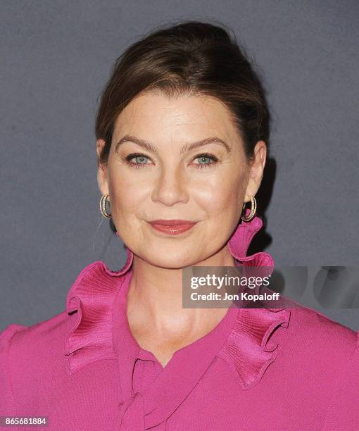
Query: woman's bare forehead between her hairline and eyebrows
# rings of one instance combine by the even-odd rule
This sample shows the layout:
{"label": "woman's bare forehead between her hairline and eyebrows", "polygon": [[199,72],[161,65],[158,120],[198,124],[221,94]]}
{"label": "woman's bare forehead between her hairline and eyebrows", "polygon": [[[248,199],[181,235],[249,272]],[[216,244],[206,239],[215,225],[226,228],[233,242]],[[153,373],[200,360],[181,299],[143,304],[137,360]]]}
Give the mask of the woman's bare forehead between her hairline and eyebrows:
{"label": "woman's bare forehead between her hairline and eyebrows", "polygon": [[183,95],[168,97],[161,92],[148,92],[132,100],[118,115],[115,134],[119,132],[158,133],[208,132],[230,136],[236,133],[232,115],[213,96]]}

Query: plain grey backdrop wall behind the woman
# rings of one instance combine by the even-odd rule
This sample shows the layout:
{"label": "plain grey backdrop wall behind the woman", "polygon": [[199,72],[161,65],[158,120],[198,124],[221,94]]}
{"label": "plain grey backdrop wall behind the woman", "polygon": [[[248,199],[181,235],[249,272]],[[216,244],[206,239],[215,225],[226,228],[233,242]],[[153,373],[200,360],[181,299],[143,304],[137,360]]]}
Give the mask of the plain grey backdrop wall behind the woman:
{"label": "plain grey backdrop wall behind the woman", "polygon": [[[263,74],[265,251],[358,265],[358,1],[1,1],[0,330],[61,313],[89,263],[125,263],[99,212],[94,115],[115,58],[176,19],[229,25]],[[359,327],[358,309],[324,313]]]}

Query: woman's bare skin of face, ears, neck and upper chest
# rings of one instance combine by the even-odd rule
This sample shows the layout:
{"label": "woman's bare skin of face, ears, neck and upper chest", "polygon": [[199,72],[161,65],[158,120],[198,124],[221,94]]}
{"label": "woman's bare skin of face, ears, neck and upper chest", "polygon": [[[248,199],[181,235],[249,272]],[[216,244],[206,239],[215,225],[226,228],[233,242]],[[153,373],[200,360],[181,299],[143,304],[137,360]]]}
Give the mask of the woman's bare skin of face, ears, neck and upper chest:
{"label": "woman's bare skin of face, ears, neck and upper chest", "polygon": [[[152,152],[124,142],[125,135],[145,139]],[[184,144],[219,137],[231,151],[210,143],[180,153]],[[104,142],[98,139],[99,156]],[[144,158],[133,157],[141,153]],[[201,158],[207,152],[215,162]],[[265,142],[256,144],[251,162],[232,118],[211,96],[168,98],[148,92],[131,101],[118,116],[107,165],[97,173],[101,194],[108,194],[113,223],[134,253],[127,318],[139,345],[164,367],[172,355],[220,323],[227,308],[182,308],[182,268],[234,266],[227,242],[237,227],[244,201],[260,187]],[[206,165],[200,168],[200,165]],[[163,235],[148,220],[198,221],[182,235]]]}

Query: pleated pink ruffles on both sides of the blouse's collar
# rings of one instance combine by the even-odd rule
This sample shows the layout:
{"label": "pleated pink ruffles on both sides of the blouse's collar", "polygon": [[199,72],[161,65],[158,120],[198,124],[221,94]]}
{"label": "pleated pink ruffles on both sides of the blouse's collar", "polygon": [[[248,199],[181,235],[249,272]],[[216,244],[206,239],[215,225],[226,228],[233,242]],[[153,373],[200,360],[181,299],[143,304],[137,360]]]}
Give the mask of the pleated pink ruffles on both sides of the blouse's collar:
{"label": "pleated pink ruffles on both sides of the blouse's collar", "polygon": [[[274,269],[275,263],[270,254],[258,252],[246,256],[253,236],[262,225],[262,220],[256,216],[251,222],[241,222],[237,226],[227,244],[236,265]],[[126,283],[132,274],[133,261],[132,251],[127,246],[125,249],[127,260],[120,270],[112,271],[102,261],[91,263],[77,276],[68,292],[66,310],[69,315],[77,311],[73,327],[65,338],[69,375],[94,361],[117,358],[113,337],[113,304],[119,290],[128,287]],[[235,315],[233,313],[229,310],[224,318],[229,319],[231,326],[215,356],[226,361],[238,375],[239,386],[248,389],[259,382],[270,363],[275,361],[278,345],[268,346],[267,340],[279,326],[288,327],[290,309],[236,308]],[[224,325],[221,322],[218,327],[221,324]],[[152,419],[151,422],[149,416],[147,422],[155,426],[160,421],[160,415],[156,418],[152,416]]]}

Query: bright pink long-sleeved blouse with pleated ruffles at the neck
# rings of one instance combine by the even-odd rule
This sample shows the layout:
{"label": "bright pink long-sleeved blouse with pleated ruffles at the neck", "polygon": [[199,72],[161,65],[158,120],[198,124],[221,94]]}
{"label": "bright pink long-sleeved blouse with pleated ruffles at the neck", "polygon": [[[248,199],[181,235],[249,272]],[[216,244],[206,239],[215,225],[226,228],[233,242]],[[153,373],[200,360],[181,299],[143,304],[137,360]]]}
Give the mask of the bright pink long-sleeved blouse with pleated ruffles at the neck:
{"label": "bright pink long-sleeved blouse with pleated ruffles at the neck", "polygon": [[[261,227],[237,227],[236,264],[274,268],[246,256]],[[119,271],[84,268],[62,313],[0,333],[0,416],[56,431],[359,430],[359,332],[302,306],[231,307],[163,368],[130,332],[126,251]]]}

